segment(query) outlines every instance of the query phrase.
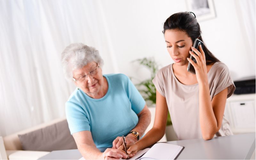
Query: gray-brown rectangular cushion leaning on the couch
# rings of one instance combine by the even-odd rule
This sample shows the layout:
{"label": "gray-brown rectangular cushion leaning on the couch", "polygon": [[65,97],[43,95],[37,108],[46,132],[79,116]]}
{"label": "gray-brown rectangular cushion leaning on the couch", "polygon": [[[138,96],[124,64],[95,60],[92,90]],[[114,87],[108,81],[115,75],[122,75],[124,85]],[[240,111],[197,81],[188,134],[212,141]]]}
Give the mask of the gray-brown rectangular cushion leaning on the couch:
{"label": "gray-brown rectangular cushion leaning on the couch", "polygon": [[77,149],[76,142],[68,129],[67,120],[18,136],[23,150],[51,152]]}

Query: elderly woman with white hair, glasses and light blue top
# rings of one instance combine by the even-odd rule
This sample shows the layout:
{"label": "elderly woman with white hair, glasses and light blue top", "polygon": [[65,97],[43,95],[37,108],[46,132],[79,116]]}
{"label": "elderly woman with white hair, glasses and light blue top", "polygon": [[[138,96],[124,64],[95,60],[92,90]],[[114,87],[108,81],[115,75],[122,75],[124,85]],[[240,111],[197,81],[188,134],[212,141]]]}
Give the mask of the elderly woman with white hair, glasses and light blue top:
{"label": "elderly woman with white hair, glasses and light blue top", "polygon": [[[68,126],[85,159],[120,159],[117,148],[133,144],[150,123],[145,100],[123,74],[102,75],[103,60],[93,47],[70,44],[61,54],[63,71],[77,89],[66,102]],[[100,149],[107,148],[103,153]]]}

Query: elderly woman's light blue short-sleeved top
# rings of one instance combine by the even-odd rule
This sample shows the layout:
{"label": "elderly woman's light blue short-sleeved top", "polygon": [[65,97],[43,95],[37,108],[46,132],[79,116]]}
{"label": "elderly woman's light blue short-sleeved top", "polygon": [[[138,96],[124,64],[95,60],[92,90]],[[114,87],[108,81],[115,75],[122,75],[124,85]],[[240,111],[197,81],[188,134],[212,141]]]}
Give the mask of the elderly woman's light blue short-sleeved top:
{"label": "elderly woman's light blue short-sleeved top", "polygon": [[112,147],[117,136],[127,135],[138,123],[137,114],[145,100],[124,74],[104,75],[108,91],[100,99],[75,90],[66,102],[66,116],[71,134],[91,131],[97,148]]}

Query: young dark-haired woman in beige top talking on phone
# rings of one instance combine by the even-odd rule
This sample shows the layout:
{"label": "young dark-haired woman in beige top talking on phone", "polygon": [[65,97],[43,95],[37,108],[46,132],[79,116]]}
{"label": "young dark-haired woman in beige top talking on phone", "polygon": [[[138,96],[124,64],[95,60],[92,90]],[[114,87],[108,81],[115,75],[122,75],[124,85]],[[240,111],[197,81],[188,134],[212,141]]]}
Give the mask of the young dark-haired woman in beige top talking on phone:
{"label": "young dark-haired woman in beige top talking on phone", "polygon": [[[154,126],[141,140],[128,145],[128,154],[136,153],[164,136],[168,109],[179,140],[210,140],[214,136],[233,134],[224,110],[235,86],[227,66],[205,45],[203,48],[200,45],[199,51],[192,47],[196,38],[203,41],[194,13],[171,15],[164,23],[163,33],[175,63],[161,68],[153,79],[157,90]],[[197,63],[189,58],[190,55]],[[189,62],[196,74],[187,71]]]}

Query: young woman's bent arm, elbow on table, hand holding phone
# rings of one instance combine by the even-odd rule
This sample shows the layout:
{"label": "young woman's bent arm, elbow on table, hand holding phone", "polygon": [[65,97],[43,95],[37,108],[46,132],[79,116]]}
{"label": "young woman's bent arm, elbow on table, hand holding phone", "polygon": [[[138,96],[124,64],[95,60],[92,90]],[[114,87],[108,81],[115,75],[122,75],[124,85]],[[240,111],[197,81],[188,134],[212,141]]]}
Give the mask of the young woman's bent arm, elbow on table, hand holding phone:
{"label": "young woman's bent arm, elbow on table, hand holding phone", "polygon": [[228,89],[226,88],[218,93],[211,101],[204,51],[201,45],[199,47],[200,52],[194,47],[191,48],[198,55],[196,56],[195,53],[189,51],[197,63],[189,58],[188,61],[196,70],[196,78],[199,84],[199,120],[202,136],[204,140],[210,140],[220,130]]}

